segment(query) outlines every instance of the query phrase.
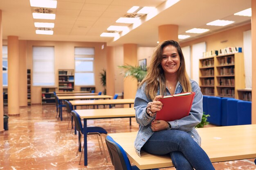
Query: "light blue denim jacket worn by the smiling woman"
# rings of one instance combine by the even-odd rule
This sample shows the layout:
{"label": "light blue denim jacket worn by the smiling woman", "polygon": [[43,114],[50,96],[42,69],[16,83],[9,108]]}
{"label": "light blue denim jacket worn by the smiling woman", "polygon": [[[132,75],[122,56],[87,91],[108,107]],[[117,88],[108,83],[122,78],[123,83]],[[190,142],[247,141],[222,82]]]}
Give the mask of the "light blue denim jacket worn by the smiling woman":
{"label": "light blue denim jacket worn by the smiling woman", "polygon": [[[169,123],[171,124],[172,129],[185,131],[189,133],[189,135],[194,139],[194,141],[197,142],[199,145],[201,145],[201,137],[199,136],[198,132],[195,130],[195,126],[199,124],[202,119],[203,95],[201,93],[201,89],[199,85],[193,80],[191,80],[190,82],[192,86],[192,91],[195,92],[195,97],[192,103],[189,116],[181,118],[180,120],[171,121]],[[139,89],[137,89],[135,102],[134,102],[136,121],[140,125],[134,144],[135,144],[135,150],[139,156],[140,156],[140,150],[142,146],[147,142],[150,136],[154,133],[154,131],[152,131],[150,128],[150,123],[155,119],[155,116],[150,117],[146,113],[147,104],[148,102],[152,102],[152,100],[147,98],[144,92],[145,86],[146,84],[143,84]],[[167,92],[167,96],[171,95],[168,89],[166,90],[166,92]],[[181,92],[182,92],[182,85],[180,84],[180,82],[178,82],[175,88],[175,94],[179,94]],[[158,87],[157,95],[159,94],[160,94],[160,91]],[[181,106],[182,106],[182,103],[181,103]]]}

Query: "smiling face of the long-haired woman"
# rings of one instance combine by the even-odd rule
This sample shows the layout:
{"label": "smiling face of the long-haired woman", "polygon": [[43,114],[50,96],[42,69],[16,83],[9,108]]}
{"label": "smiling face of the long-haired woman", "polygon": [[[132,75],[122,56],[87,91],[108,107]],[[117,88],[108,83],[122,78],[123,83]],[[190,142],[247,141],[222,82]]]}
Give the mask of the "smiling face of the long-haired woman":
{"label": "smiling face of the long-haired woman", "polygon": [[168,45],[163,48],[161,65],[164,74],[177,73],[180,68],[180,56],[176,47]]}

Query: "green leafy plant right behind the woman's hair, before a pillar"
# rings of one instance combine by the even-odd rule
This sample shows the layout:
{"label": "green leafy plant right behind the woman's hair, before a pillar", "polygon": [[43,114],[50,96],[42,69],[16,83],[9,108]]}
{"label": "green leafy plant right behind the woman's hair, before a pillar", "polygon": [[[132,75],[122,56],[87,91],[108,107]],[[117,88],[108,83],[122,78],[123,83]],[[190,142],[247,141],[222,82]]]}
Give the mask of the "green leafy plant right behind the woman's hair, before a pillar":
{"label": "green leafy plant right behind the woman's hair, before a pillar", "polygon": [[141,82],[147,74],[147,70],[141,66],[119,65],[118,68],[122,69],[121,74],[123,74],[124,77],[132,76],[136,78],[138,82]]}

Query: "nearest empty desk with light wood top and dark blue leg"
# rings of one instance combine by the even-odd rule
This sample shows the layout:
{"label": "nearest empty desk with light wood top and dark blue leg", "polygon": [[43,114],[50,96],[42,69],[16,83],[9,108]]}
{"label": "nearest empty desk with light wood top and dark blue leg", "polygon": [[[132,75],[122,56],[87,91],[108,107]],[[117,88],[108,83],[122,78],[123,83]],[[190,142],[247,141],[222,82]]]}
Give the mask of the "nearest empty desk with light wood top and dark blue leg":
{"label": "nearest empty desk with light wood top and dark blue leg", "polygon": [[[87,120],[107,119],[107,118],[131,118],[135,117],[133,108],[113,108],[113,109],[80,109],[75,110],[83,119],[83,139],[84,139],[84,165],[87,166]],[[80,133],[79,133],[80,139]],[[80,146],[81,147],[81,146]]]}

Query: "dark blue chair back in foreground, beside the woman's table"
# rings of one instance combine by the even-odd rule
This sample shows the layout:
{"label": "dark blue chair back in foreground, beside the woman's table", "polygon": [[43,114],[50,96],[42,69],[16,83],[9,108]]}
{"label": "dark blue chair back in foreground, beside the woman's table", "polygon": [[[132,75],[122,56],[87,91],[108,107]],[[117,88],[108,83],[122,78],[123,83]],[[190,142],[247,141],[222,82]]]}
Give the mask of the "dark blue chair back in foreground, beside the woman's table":
{"label": "dark blue chair back in foreground, beside the woman's table", "polygon": [[124,149],[112,137],[106,136],[105,141],[115,170],[139,170],[137,166],[131,166]]}

